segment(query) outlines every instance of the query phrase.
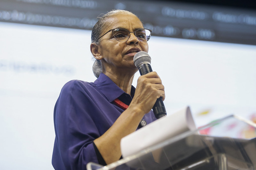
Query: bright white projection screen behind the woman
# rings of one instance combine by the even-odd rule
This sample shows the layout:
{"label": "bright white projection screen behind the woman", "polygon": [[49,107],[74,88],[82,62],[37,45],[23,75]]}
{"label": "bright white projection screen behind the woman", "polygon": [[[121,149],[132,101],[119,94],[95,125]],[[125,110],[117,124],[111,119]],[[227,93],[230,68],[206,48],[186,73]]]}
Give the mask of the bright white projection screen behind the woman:
{"label": "bright white projection screen behind the woman", "polygon": [[[0,169],[53,169],[60,90],[71,79],[95,80],[90,33],[0,22]],[[148,43],[168,114],[189,105],[197,126],[256,114],[255,46],[161,37]]]}

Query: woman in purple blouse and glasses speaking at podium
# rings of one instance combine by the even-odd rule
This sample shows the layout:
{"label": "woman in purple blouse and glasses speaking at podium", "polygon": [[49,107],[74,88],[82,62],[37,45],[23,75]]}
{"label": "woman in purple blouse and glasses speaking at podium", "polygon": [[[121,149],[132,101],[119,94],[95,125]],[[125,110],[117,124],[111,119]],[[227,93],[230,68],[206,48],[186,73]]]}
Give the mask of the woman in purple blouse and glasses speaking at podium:
{"label": "woman in purple blouse and glasses speaking at podium", "polygon": [[149,38],[150,31],[128,11],[110,11],[95,24],[90,48],[94,67],[100,66],[100,71],[94,69],[98,78],[94,83],[68,82],[54,107],[55,169],[115,162],[121,157],[121,138],[134,132],[142,119],[155,120],[151,109],[157,98],[165,98],[157,73],[140,76],[136,90],[132,86],[138,71],[133,56],[148,52]]}

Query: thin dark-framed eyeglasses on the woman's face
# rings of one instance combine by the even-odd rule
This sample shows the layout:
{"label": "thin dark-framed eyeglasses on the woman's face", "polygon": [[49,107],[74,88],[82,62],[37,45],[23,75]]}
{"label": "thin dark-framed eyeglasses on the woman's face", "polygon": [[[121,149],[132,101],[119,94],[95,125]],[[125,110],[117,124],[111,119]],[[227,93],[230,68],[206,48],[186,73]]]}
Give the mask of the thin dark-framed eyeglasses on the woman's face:
{"label": "thin dark-framed eyeglasses on the woman's face", "polygon": [[[134,32],[129,32],[128,30],[122,29],[122,28],[111,29],[108,32],[111,32],[111,31],[115,39],[120,42],[127,41],[130,37],[130,33],[134,33],[139,41],[147,42],[150,39],[151,32],[152,32],[152,30],[149,30],[149,29],[137,29]],[[108,32],[104,33],[101,37],[106,35]]]}

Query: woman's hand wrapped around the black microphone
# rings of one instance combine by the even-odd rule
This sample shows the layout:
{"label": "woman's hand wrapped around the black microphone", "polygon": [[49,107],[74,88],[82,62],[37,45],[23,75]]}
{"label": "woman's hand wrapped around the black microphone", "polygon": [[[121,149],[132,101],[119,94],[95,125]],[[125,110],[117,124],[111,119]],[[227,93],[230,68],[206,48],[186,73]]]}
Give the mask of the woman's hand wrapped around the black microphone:
{"label": "woman's hand wrapped around the black microphone", "polygon": [[164,86],[158,74],[153,71],[140,76],[137,81],[136,91],[129,107],[137,107],[141,113],[148,113],[156,100],[165,99]]}

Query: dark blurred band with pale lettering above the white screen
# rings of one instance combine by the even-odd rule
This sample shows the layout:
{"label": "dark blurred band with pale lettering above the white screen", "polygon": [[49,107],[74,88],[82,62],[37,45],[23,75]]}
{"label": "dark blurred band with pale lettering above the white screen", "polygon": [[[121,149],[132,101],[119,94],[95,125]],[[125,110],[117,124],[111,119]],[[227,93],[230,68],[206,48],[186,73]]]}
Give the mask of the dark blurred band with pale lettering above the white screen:
{"label": "dark blurred band with pale lettering above the white screen", "polygon": [[0,0],[0,22],[91,30],[112,9],[132,11],[154,36],[256,45],[256,0]]}

